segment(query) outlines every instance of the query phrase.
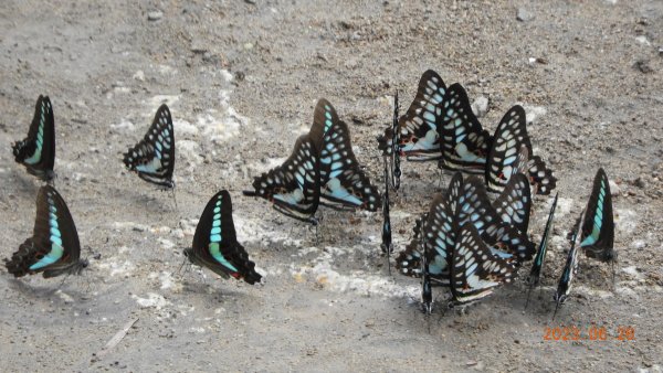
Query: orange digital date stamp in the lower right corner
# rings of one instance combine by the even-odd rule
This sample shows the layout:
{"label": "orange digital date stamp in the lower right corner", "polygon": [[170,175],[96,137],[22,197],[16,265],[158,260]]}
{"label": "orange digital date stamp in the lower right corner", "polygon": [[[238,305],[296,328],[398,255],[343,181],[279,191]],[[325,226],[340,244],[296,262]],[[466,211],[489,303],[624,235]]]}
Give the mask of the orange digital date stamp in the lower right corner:
{"label": "orange digital date stamp in the lower right corner", "polygon": [[635,328],[631,326],[619,326],[615,332],[610,333],[606,327],[589,326],[580,328],[570,327],[546,327],[544,341],[634,341]]}

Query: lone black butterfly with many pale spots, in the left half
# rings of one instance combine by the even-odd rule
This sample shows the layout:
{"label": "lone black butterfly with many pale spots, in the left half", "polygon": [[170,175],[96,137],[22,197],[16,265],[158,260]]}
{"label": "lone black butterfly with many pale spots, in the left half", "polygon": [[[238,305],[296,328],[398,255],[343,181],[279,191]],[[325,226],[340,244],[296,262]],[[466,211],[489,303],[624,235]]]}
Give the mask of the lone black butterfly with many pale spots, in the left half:
{"label": "lone black butterfly with many pale spots, in the left half", "polygon": [[165,188],[175,188],[175,132],[166,104],[157,110],[143,140],[123,156],[127,169],[136,171],[140,179]]}

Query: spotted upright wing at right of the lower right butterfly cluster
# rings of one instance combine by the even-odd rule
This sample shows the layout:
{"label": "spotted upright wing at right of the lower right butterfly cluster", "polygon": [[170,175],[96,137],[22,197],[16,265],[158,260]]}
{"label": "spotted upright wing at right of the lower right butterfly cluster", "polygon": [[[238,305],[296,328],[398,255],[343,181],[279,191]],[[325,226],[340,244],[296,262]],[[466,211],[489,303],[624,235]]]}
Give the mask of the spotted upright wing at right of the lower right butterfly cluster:
{"label": "spotted upright wing at right of the lower right butterfly cluster", "polygon": [[503,222],[514,225],[520,233],[526,234],[532,210],[527,177],[522,173],[511,177],[493,206]]}

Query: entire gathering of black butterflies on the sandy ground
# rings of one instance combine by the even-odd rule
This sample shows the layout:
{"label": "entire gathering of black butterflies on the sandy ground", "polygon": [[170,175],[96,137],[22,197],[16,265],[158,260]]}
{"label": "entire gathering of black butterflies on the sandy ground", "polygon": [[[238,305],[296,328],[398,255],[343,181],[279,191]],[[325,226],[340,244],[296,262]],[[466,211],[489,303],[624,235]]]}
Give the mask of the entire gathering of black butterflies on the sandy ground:
{"label": "entire gathering of black butterflies on the sandy ground", "polygon": [[[414,238],[396,259],[402,274],[423,279],[427,312],[432,311],[433,286],[449,287],[453,303],[469,303],[511,283],[522,264],[533,258],[530,289],[539,284],[557,196],[537,251],[527,235],[532,194],[549,194],[556,179],[540,157],[532,156],[524,109],[511,108],[491,136],[474,116],[464,88],[457,83],[448,88],[435,72],[427,71],[407,113],[399,117],[398,110],[397,93],[393,122],[378,138],[385,157],[383,193],[371,184],[357,161],[347,124],[329,102],[320,99],[309,131],[296,140],[292,154],[283,164],[254,178],[253,190],[243,194],[265,199],[284,215],[313,225],[318,224],[315,214],[319,205],[371,212],[381,207],[381,247],[389,258],[393,251],[389,189],[398,191],[400,186],[400,157],[439,160],[440,168],[473,175],[463,179],[461,172],[454,174],[446,193],[436,195],[429,212],[417,221]],[[81,259],[73,219],[52,185],[55,131],[49,97],[39,97],[28,138],[13,145],[13,153],[29,173],[48,184],[38,193],[32,237],[6,259],[6,267],[15,277],[78,274],[87,260]],[[175,134],[166,105],[159,107],[143,140],[124,154],[123,161],[140,179],[175,190]],[[488,191],[501,193],[495,202],[491,202]],[[568,297],[577,270],[577,237],[589,257],[617,259],[610,189],[602,169],[578,226],[555,295],[558,306]],[[232,276],[249,284],[261,280],[255,264],[236,241],[232,202],[225,190],[206,205],[192,247],[185,249],[185,255],[192,264],[224,278]]]}

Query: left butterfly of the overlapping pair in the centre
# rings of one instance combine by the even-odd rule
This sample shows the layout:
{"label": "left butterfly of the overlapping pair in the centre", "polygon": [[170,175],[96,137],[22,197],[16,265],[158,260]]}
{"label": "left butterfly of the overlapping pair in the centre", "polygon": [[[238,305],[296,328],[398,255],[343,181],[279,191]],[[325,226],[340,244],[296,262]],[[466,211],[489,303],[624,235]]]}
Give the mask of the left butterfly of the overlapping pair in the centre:
{"label": "left butterfly of the overlapping pair in the centre", "polygon": [[290,158],[254,178],[254,191],[244,191],[244,195],[266,199],[282,214],[317,225],[314,215],[320,198],[319,146],[311,135],[299,136]]}

